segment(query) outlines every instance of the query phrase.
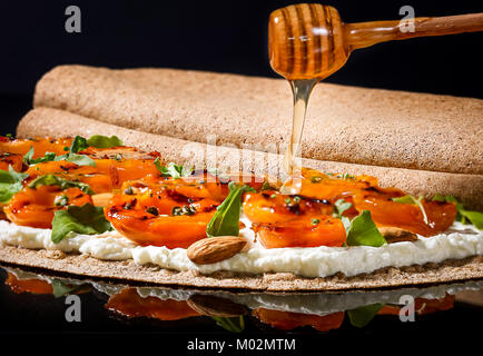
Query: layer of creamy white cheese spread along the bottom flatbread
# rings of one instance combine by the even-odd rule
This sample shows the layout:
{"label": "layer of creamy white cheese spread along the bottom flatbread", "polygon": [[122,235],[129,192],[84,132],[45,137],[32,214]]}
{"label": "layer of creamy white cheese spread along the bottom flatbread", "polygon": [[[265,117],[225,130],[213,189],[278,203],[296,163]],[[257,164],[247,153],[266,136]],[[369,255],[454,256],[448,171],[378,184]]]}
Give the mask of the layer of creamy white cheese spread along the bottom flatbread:
{"label": "layer of creamy white cheese spread along the bottom flatbread", "polygon": [[[245,234],[249,234],[245,229]],[[310,247],[265,249],[254,245],[248,251],[211,265],[196,265],[186,249],[158,246],[136,246],[117,231],[101,235],[71,234],[59,244],[50,240],[50,229],[17,226],[0,221],[0,243],[32,249],[78,251],[95,258],[125,260],[132,258],[139,265],[154,264],[175,270],[198,270],[210,274],[218,270],[239,273],[294,273],[303,277],[326,277],[336,273],[355,276],[384,267],[403,267],[441,263],[451,258],[483,255],[483,233],[471,226],[455,224],[445,234],[420,237],[417,241],[396,243],[382,247]]]}

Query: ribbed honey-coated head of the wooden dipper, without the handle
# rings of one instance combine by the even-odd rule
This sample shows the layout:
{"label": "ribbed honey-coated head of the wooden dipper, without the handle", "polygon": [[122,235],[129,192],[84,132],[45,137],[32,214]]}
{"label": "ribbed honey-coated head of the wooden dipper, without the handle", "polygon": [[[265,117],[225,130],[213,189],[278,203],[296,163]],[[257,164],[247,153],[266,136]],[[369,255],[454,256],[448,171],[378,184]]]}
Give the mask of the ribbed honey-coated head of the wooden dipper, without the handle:
{"label": "ribbed honey-coated head of the wooden dipper, without the handle", "polygon": [[349,53],[343,26],[329,6],[299,3],[275,10],[268,22],[272,68],[288,80],[328,77]]}

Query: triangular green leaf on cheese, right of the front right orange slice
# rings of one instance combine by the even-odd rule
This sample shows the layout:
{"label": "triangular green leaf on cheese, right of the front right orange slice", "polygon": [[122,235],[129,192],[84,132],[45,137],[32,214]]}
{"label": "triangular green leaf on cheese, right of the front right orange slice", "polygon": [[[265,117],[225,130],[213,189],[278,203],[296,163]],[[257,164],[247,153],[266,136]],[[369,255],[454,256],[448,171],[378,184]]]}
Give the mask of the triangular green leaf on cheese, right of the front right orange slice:
{"label": "triangular green leaf on cheese, right of the front right orange slice", "polygon": [[346,244],[348,246],[381,247],[387,243],[374,224],[371,211],[363,210],[359,216],[351,221]]}

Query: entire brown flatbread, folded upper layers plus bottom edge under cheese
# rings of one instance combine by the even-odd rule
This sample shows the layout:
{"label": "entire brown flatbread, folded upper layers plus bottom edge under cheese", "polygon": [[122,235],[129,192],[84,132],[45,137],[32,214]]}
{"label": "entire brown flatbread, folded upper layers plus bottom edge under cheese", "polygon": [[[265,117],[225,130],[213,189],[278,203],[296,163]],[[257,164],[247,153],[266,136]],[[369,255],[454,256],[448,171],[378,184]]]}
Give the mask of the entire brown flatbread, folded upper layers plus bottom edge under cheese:
{"label": "entire brown flatbread, folded upper layers plus bottom edge under cheese", "polygon": [[[165,160],[203,167],[217,155],[229,167],[246,168],[247,157],[239,148],[248,145],[259,147],[245,151],[252,157],[248,169],[279,176],[277,144],[286,142],[290,127],[286,86],[280,80],[233,75],[63,66],[37,85],[36,109],[21,120],[18,135],[117,135],[126,145],[159,150]],[[413,195],[450,194],[467,207],[482,208],[483,100],[322,85],[309,108],[303,156],[310,159],[303,160],[303,166],[373,175],[382,186],[397,186]],[[204,145],[209,135],[223,146]],[[203,151],[207,155],[199,155]],[[0,246],[0,261],[78,276],[269,291],[373,289],[483,278],[482,256],[326,278],[287,273],[200,275],[139,266],[134,260],[106,261],[12,246]]]}

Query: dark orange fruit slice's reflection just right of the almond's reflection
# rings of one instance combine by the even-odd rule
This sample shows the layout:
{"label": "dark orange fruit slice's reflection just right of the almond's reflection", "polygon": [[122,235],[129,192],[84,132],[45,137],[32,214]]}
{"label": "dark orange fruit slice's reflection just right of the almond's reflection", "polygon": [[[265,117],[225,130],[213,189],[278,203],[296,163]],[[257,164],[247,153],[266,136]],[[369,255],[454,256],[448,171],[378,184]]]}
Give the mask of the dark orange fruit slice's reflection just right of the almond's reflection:
{"label": "dark orange fruit slice's reflection just right of the almond's reflection", "polygon": [[253,312],[253,315],[262,323],[269,324],[273,327],[284,330],[290,330],[296,327],[309,325],[319,332],[328,332],[339,328],[344,322],[344,312],[318,316],[258,308]]}

